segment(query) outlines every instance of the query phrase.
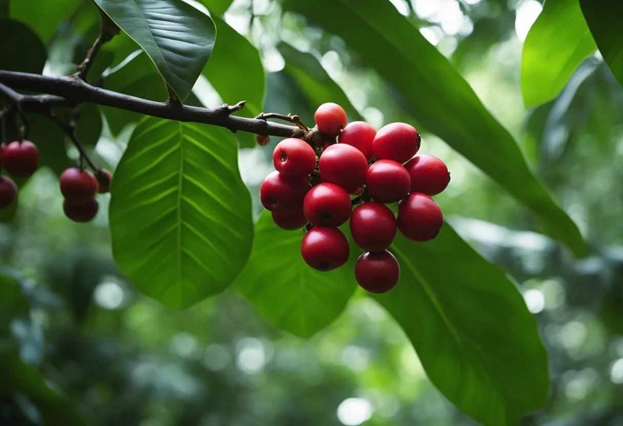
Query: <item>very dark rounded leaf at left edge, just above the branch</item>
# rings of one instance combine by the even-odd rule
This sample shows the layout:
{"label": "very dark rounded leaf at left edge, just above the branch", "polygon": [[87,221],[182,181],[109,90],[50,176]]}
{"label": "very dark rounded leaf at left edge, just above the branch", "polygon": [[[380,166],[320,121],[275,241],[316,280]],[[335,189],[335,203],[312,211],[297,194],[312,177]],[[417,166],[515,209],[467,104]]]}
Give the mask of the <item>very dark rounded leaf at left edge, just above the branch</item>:
{"label": "very dark rounded leaf at left edge, just above the branch", "polygon": [[[45,46],[22,22],[0,19],[0,70],[41,73],[47,59]],[[28,52],[24,55],[24,52]]]}

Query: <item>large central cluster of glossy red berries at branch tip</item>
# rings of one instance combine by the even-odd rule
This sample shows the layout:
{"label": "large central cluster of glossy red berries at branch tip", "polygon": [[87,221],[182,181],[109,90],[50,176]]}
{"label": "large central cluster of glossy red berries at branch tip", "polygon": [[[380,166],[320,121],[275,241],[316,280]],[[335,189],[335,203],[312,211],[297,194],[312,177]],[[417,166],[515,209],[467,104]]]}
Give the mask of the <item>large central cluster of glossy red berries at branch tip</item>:
{"label": "large central cluster of glossy red berries at branch tip", "polygon": [[[424,242],[437,237],[444,224],[430,196],[448,186],[448,169],[434,156],[416,155],[421,136],[405,123],[376,131],[364,121],[348,123],[335,103],[321,105],[315,121],[328,140],[320,156],[301,139],[278,143],[276,170],[260,187],[262,205],[279,227],[307,228],[301,254],[321,271],[348,261],[348,239],[338,226],[350,219],[354,243],[365,251],[354,267],[357,282],[372,293],[389,291],[400,279],[398,261],[388,252],[397,230]],[[351,195],[363,204],[353,209]],[[399,202],[397,217],[385,205],[393,202]]]}

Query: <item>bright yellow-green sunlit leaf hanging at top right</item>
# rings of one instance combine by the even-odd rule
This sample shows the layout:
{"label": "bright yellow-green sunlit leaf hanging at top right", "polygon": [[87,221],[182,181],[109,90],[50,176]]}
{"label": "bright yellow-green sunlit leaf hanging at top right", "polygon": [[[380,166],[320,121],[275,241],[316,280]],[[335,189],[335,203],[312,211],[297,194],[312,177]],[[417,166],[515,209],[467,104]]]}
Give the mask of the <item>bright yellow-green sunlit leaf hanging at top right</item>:
{"label": "bright yellow-green sunlit leaf hanging at top right", "polygon": [[558,96],[595,49],[578,0],[546,1],[523,44],[521,91],[526,108]]}

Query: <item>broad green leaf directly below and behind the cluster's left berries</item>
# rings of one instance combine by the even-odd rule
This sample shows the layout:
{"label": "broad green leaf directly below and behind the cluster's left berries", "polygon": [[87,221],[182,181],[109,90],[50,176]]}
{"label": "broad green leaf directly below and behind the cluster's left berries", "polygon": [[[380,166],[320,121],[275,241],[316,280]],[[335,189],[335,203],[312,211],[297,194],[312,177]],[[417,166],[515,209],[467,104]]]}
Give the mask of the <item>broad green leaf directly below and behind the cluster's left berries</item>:
{"label": "broad green leaf directly below and behind the cluster's left berries", "polygon": [[255,309],[278,328],[308,338],[344,310],[357,287],[351,250],[346,265],[330,272],[310,268],[301,257],[305,230],[285,231],[270,212],[260,215],[249,262],[235,287]]}

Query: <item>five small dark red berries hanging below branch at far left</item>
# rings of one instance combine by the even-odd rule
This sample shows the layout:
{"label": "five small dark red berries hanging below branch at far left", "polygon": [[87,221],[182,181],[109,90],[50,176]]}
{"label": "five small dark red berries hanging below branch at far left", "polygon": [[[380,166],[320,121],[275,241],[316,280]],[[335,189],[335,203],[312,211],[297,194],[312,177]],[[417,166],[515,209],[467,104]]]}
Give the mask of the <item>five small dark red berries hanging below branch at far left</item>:
{"label": "five small dark red berries hanging below branch at far left", "polygon": [[[11,176],[28,178],[39,168],[39,149],[31,141],[13,141],[0,145],[0,166]],[[69,168],[60,175],[60,192],[65,201],[63,211],[75,222],[88,222],[95,217],[99,204],[95,194],[108,192],[112,175],[98,170],[97,178],[83,168]],[[11,206],[17,186],[8,176],[0,176],[0,210]]]}

